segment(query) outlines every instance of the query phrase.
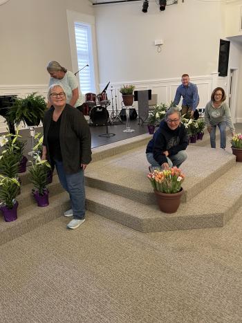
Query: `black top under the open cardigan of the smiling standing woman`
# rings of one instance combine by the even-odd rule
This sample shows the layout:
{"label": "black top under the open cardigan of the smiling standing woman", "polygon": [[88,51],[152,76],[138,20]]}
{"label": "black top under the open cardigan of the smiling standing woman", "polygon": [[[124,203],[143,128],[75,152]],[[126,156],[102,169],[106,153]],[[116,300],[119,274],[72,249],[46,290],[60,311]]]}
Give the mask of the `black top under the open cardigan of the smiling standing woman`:
{"label": "black top under the open cardigan of the smiling standing woman", "polygon": [[48,145],[50,151],[50,158],[53,160],[62,161],[62,150],[59,142],[59,129],[62,120],[62,114],[57,121],[53,119],[50,122],[50,129],[48,131]]}

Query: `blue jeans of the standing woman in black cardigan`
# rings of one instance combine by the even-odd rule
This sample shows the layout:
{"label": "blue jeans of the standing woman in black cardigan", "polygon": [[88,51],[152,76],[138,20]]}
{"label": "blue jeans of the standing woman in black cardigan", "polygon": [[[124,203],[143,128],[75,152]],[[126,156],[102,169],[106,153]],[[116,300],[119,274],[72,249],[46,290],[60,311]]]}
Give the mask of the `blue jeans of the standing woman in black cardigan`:
{"label": "blue jeans of the standing woman in black cardigan", "polygon": [[84,186],[84,172],[75,174],[66,174],[63,163],[55,160],[55,167],[59,177],[59,181],[66,192],[68,192],[71,199],[71,208],[73,209],[74,219],[85,218],[85,186]]}

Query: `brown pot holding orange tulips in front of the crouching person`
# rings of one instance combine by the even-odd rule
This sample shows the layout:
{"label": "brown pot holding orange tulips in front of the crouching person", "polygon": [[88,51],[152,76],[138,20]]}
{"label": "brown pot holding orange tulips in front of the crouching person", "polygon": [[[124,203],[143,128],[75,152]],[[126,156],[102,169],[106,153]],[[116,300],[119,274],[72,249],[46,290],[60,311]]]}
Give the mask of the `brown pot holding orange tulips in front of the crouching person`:
{"label": "brown pot holding orange tulips in front of the crouching person", "polygon": [[175,213],[178,210],[180,198],[183,195],[183,187],[180,189],[180,192],[174,194],[161,193],[156,190],[153,190],[153,192],[156,194],[156,200],[160,207],[160,211]]}

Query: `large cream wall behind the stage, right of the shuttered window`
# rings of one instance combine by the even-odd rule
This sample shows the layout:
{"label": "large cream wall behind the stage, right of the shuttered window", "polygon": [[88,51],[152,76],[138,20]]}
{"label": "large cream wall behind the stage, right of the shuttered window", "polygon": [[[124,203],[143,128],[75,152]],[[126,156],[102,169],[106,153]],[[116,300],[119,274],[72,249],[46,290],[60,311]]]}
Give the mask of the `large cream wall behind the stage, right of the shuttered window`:
{"label": "large cream wall behind the stage, right of the shuttered window", "polygon": [[[96,6],[100,82],[132,82],[210,75],[218,68],[222,34],[220,3],[186,0],[159,11],[150,1]],[[162,38],[157,53],[153,44]]]}

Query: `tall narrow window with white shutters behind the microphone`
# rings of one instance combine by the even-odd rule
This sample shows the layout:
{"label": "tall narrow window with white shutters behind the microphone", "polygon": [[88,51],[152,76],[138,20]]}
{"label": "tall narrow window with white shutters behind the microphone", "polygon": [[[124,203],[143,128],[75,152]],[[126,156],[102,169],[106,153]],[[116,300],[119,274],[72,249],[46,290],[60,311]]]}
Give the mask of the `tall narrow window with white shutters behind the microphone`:
{"label": "tall narrow window with white shutters behind the microphone", "polygon": [[95,77],[93,69],[93,53],[91,41],[91,26],[75,22],[75,43],[77,46],[78,70],[89,64],[77,75],[80,78],[80,88],[83,94],[95,93]]}

